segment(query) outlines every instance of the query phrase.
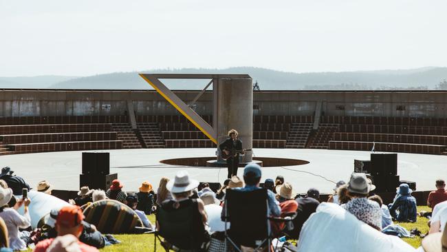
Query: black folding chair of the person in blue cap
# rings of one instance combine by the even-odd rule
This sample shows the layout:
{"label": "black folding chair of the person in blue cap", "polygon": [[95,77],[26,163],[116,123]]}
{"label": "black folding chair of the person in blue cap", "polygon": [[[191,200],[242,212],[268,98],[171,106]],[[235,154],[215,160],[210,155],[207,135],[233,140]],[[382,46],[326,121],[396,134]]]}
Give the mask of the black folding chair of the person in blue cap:
{"label": "black folding chair of the person in blue cap", "polygon": [[[255,250],[272,243],[268,218],[267,189],[237,191],[227,189],[225,196],[225,224],[230,222],[230,230],[225,231],[226,244],[241,252],[239,246]],[[228,245],[226,245],[228,246]],[[226,251],[230,249],[226,247]]]}

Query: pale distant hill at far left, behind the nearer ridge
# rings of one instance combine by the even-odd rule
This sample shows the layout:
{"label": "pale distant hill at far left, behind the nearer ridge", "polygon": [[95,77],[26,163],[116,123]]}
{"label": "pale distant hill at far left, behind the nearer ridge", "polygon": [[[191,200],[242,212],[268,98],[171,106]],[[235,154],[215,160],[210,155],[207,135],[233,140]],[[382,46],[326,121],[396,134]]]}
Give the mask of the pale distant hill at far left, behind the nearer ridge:
{"label": "pale distant hill at far left, behind the nearer ridge", "polygon": [[32,77],[0,77],[0,88],[47,88],[77,76],[42,75]]}

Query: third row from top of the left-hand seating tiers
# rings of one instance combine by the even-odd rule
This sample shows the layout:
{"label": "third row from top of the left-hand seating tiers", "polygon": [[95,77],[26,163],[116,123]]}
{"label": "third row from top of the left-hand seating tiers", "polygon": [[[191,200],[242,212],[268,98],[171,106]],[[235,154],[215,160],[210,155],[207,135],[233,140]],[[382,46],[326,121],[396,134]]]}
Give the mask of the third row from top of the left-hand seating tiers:
{"label": "third row from top of the left-hand seating tiers", "polygon": [[71,132],[1,135],[3,145],[20,143],[55,143],[75,141],[117,140],[116,132]]}

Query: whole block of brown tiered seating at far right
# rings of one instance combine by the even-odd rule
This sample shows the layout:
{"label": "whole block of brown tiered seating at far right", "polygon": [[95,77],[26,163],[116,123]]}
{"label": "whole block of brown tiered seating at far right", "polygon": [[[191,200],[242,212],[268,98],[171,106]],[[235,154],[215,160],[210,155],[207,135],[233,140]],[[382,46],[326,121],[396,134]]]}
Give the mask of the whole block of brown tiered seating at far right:
{"label": "whole block of brown tiered seating at far right", "polygon": [[329,149],[443,154],[447,146],[445,118],[324,116],[340,123]]}

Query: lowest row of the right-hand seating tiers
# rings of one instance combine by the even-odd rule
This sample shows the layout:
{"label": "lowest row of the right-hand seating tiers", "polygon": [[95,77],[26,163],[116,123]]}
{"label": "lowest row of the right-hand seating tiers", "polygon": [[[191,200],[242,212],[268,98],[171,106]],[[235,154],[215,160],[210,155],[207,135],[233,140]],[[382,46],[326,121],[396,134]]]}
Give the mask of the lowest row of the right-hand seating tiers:
{"label": "lowest row of the right-hand seating tiers", "polygon": [[418,154],[443,154],[445,145],[420,145],[413,143],[373,143],[373,142],[352,142],[352,141],[329,141],[329,149],[345,149],[353,151],[389,151],[407,152]]}

